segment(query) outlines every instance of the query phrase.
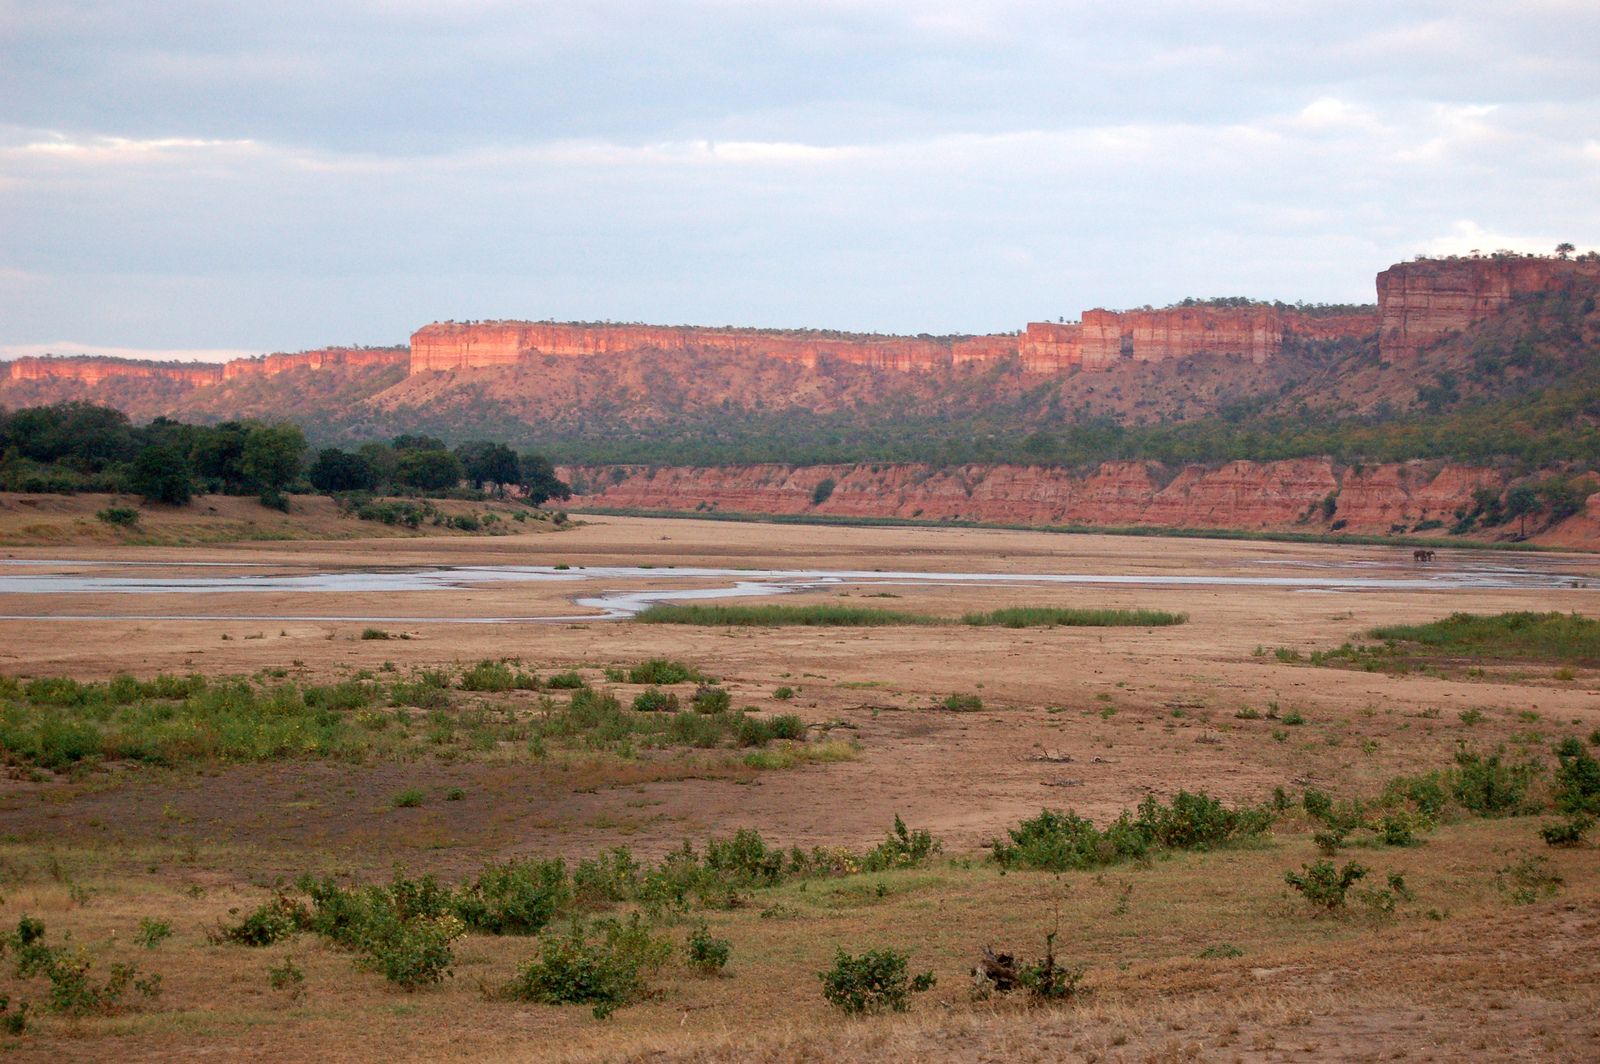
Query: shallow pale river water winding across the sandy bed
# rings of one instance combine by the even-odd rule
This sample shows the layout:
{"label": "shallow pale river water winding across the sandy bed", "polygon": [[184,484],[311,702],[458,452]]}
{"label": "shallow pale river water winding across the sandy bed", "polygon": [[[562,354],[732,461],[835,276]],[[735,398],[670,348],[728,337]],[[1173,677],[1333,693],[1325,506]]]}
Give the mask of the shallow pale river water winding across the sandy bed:
{"label": "shallow pale river water winding across the sandy bed", "polygon": [[[1267,565],[1285,562],[1267,562]],[[96,563],[78,562],[0,562],[8,565],[34,565],[56,568],[91,568]],[[122,565],[122,563],[99,563]],[[150,568],[194,568],[187,562],[141,562]],[[1318,570],[1366,570],[1370,562],[1304,563]],[[1390,566],[1394,568],[1394,566]],[[877,570],[726,570],[726,568],[645,568],[645,566],[592,566],[557,570],[539,565],[466,565],[440,568],[350,570],[304,574],[218,574],[218,576],[99,576],[94,573],[6,573],[0,568],[0,594],[10,595],[200,595],[200,594],[400,594],[426,590],[466,590],[494,584],[520,582],[618,582],[634,584],[632,589],[603,590],[598,595],[576,597],[576,606],[597,610],[589,614],[547,616],[482,616],[482,618],[424,618],[424,616],[307,616],[307,614],[88,614],[43,613],[0,614],[0,619],[56,619],[56,621],[387,621],[430,624],[515,624],[515,622],[573,622],[573,621],[621,621],[662,602],[702,602],[715,598],[746,598],[782,595],[797,590],[813,590],[835,584],[869,587],[894,586],[960,586],[960,587],[1283,587],[1301,592],[1362,592],[1362,590],[1571,590],[1592,587],[1584,576],[1510,566],[1496,563],[1461,563],[1451,568],[1419,570],[1406,576],[1334,574],[1326,576],[1222,576],[1222,574],[1090,574],[1090,573],[912,573]],[[712,587],[691,589],[640,589],[642,582],[699,581],[715,582]]]}

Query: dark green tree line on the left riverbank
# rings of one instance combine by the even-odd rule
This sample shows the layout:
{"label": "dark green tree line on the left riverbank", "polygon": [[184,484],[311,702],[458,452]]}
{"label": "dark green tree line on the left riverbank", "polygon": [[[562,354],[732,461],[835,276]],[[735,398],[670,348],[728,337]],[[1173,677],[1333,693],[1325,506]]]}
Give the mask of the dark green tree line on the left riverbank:
{"label": "dark green tree line on the left riverbank", "polygon": [[184,506],[195,494],[254,494],[286,507],[290,493],[440,496],[490,490],[533,506],[571,490],[542,454],[469,440],[454,448],[430,435],[398,435],[354,451],[310,453],[299,426],[157,418],[134,426],[109,406],[70,402],[0,410],[0,490],[131,493]]}

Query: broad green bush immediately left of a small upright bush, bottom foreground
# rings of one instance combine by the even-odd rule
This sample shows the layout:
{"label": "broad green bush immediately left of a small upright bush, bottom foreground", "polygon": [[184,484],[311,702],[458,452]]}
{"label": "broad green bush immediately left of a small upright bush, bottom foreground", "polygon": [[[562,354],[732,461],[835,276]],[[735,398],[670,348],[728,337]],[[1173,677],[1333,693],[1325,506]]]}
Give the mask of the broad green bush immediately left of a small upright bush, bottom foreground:
{"label": "broad green bush immediately left of a small upright bush, bottom foreground", "polygon": [[566,934],[539,936],[539,957],[523,965],[506,987],[520,1002],[589,1005],[595,1019],[637,1000],[645,978],[672,955],[666,939],[651,938],[638,914],[627,922],[600,920],[586,928],[573,920]]}

